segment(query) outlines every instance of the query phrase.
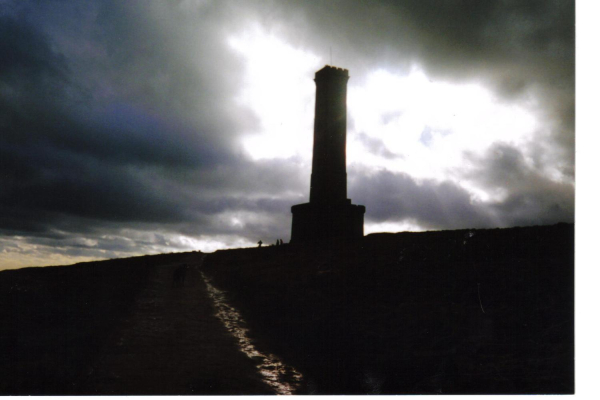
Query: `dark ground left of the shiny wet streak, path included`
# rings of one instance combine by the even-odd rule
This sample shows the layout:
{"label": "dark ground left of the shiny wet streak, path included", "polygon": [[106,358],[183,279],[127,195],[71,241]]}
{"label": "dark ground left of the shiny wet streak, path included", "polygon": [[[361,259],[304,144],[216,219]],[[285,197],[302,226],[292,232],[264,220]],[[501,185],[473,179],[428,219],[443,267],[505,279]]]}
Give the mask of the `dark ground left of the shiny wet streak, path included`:
{"label": "dark ground left of the shiny wet streak, path included", "polygon": [[0,395],[270,394],[214,316],[201,253],[0,272]]}

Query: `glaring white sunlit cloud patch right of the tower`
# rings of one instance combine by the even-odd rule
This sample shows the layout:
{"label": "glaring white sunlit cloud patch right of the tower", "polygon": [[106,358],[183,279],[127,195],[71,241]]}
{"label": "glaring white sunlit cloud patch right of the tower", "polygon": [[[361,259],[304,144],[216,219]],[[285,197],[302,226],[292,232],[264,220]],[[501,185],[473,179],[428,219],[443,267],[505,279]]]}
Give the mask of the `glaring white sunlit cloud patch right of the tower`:
{"label": "glaring white sunlit cloud patch right of the tower", "polygon": [[[432,81],[417,68],[405,76],[371,72],[363,86],[351,86],[348,109],[348,159],[417,179],[452,178],[463,152],[482,152],[498,141],[519,146],[537,128],[531,109],[504,104],[477,83]],[[373,154],[358,139],[365,136],[396,157]]]}

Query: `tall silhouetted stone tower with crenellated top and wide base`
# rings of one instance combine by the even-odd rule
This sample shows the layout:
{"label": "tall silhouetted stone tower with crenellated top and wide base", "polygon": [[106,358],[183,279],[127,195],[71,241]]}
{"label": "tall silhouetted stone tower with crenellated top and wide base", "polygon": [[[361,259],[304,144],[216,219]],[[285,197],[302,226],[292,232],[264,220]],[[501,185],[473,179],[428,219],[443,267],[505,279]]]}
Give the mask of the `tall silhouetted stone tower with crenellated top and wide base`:
{"label": "tall silhouetted stone tower with crenellated top and wide base", "polygon": [[363,237],[365,207],[351,204],[346,186],[348,70],[326,65],[315,74],[317,98],[310,202],[292,207],[291,243]]}

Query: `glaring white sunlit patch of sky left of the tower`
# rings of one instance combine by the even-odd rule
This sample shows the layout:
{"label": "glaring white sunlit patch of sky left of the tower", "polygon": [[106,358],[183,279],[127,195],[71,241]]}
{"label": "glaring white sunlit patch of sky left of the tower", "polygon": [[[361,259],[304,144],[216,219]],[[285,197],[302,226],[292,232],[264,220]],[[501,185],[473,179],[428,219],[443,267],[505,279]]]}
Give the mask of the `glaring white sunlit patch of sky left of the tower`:
{"label": "glaring white sunlit patch of sky left of the tower", "polygon": [[238,101],[259,119],[243,146],[253,159],[310,157],[314,116],[314,72],[321,61],[258,27],[229,39],[246,59],[246,87]]}

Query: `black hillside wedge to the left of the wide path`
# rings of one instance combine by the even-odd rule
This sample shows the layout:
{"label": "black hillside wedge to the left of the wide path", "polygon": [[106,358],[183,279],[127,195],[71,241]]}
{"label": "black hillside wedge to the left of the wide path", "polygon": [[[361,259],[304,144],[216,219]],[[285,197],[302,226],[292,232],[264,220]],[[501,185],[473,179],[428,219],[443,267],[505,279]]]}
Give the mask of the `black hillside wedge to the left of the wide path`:
{"label": "black hillside wedge to the left of the wide path", "polygon": [[148,271],[145,257],[2,271],[0,393],[77,393]]}

